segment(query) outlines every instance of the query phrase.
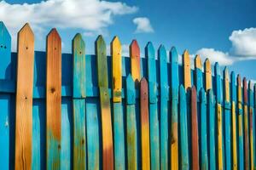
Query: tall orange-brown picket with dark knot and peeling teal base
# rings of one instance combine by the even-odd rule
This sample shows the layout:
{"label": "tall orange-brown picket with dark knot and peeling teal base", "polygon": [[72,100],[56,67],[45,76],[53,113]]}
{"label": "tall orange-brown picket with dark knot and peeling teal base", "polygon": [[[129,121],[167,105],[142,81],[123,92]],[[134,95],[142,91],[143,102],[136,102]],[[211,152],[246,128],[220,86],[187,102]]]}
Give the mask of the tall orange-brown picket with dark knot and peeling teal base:
{"label": "tall orange-brown picket with dark knot and peeling teal base", "polygon": [[46,47],[47,169],[61,169],[61,37],[56,29]]}

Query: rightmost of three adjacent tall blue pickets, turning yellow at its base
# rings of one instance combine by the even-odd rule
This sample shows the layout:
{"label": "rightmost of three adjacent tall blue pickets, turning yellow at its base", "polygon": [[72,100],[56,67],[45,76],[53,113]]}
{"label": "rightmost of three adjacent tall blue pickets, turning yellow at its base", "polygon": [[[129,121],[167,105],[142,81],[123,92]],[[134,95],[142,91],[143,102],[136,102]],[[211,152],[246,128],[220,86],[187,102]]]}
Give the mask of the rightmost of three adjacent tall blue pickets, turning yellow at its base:
{"label": "rightmost of three adjacent tall blue pickets, turning yellow at its base", "polygon": [[176,48],[172,47],[170,51],[171,60],[171,168],[178,169],[178,87],[179,87],[179,77],[178,77],[178,55]]}

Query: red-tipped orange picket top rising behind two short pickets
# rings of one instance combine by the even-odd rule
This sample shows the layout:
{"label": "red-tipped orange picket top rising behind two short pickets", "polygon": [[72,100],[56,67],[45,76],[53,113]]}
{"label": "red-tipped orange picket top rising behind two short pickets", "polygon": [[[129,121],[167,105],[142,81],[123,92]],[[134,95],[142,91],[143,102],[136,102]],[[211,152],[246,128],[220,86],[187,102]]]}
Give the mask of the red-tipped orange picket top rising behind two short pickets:
{"label": "red-tipped orange picket top rising behind two short pickets", "polygon": [[141,80],[140,48],[137,40],[132,40],[130,45],[131,76],[134,81]]}

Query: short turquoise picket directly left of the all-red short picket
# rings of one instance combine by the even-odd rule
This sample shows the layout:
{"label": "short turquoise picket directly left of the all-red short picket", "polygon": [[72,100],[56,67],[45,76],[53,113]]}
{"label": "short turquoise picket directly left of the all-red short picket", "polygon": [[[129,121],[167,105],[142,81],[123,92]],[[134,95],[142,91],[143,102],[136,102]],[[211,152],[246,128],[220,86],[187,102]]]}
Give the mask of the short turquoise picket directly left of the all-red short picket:
{"label": "short turquoise picket directly left of the all-red short picket", "polygon": [[179,87],[179,136],[180,136],[180,164],[182,170],[189,170],[189,143],[187,124],[187,97],[183,85]]}

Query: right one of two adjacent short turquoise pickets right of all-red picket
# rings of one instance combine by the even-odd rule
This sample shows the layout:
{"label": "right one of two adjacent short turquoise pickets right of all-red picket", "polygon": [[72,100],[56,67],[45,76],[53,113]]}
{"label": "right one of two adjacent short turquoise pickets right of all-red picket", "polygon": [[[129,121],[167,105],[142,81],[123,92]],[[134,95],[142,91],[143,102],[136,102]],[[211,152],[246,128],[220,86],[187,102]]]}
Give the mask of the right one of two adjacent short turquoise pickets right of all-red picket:
{"label": "right one of two adjacent short turquoise pickets right of all-red picket", "polygon": [[212,89],[207,92],[207,113],[208,113],[208,134],[209,134],[209,169],[215,170],[216,168],[216,114],[215,114],[215,101]]}

